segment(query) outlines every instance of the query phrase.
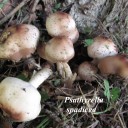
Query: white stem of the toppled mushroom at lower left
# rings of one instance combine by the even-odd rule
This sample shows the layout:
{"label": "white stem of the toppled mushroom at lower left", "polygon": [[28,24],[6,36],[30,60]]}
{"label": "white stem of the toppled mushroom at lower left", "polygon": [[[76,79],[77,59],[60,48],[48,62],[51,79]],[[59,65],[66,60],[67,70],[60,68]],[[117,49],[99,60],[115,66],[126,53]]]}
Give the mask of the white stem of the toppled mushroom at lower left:
{"label": "white stem of the toppled mushroom at lower left", "polygon": [[43,83],[50,75],[52,75],[52,73],[53,72],[50,68],[45,67],[33,75],[29,80],[29,83],[35,88],[38,88],[41,83]]}

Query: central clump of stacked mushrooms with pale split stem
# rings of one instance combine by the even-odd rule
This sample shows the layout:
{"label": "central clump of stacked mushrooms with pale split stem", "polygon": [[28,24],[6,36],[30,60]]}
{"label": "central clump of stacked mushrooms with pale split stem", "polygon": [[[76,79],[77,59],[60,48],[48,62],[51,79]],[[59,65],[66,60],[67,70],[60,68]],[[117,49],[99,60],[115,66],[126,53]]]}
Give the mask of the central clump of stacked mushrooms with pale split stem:
{"label": "central clump of stacked mushrooms with pale split stem", "polygon": [[64,12],[56,12],[46,19],[46,29],[53,38],[37,48],[39,56],[57,64],[57,69],[64,79],[72,77],[68,61],[74,57],[75,43],[79,37],[73,18]]}

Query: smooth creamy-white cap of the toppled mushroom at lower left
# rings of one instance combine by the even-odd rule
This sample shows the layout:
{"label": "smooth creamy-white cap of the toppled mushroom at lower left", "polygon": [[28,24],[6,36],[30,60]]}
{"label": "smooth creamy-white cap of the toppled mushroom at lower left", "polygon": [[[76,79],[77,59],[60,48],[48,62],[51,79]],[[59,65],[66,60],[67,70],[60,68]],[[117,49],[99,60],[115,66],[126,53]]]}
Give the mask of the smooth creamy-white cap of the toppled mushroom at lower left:
{"label": "smooth creamy-white cap of the toppled mushroom at lower left", "polygon": [[13,121],[35,119],[41,111],[41,96],[28,82],[7,77],[0,83],[0,108]]}

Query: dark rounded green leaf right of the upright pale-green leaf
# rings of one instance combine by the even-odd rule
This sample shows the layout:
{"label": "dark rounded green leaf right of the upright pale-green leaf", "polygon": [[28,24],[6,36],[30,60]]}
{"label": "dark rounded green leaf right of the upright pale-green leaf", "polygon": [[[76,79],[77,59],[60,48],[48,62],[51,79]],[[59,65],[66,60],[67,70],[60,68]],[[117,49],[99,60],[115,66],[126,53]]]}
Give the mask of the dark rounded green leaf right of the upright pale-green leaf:
{"label": "dark rounded green leaf right of the upright pale-green leaf", "polygon": [[120,89],[115,87],[111,91],[111,101],[114,102],[119,98],[120,95]]}

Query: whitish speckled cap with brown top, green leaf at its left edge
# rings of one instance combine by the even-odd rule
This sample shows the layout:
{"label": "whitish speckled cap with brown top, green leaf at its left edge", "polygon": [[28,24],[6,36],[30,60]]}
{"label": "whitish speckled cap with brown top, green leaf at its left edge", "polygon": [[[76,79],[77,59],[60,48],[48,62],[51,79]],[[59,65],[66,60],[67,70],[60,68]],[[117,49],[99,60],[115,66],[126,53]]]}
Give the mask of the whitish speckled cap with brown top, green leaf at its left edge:
{"label": "whitish speckled cap with brown top, green leaf at its left edge", "polygon": [[113,41],[103,36],[94,38],[93,44],[87,47],[87,52],[91,58],[96,59],[118,54],[117,46]]}

